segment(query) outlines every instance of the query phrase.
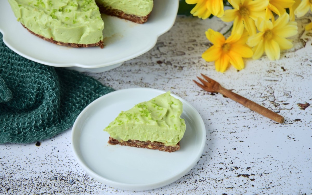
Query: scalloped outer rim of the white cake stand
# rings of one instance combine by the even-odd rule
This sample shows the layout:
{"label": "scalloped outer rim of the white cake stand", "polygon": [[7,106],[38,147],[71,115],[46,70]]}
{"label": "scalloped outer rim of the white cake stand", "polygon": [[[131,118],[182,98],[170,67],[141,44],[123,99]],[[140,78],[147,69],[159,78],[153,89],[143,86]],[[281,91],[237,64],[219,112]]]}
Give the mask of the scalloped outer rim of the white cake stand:
{"label": "scalloped outer rim of the white cake stand", "polygon": [[[149,51],[150,49],[152,49],[158,40],[158,37],[163,35],[164,33],[168,32],[172,26],[174,25],[174,22],[176,20],[177,17],[177,13],[178,13],[178,5],[179,5],[179,0],[174,0],[174,1],[168,1],[169,4],[173,4],[173,10],[172,10],[172,15],[174,16],[173,18],[171,18],[172,20],[170,21],[170,24],[168,23],[168,26],[166,28],[163,28],[162,31],[159,31],[158,33],[153,34],[153,37],[151,38],[151,43],[149,46],[142,48],[140,51],[133,53],[127,57],[122,57],[122,58],[116,58],[114,60],[108,61],[108,62],[92,62],[90,64],[88,63],[80,63],[79,61],[74,61],[74,62],[66,62],[66,63],[60,63],[57,61],[51,61],[51,58],[46,58],[46,59],[41,59],[40,57],[36,57],[30,54],[25,54],[23,51],[21,51],[21,49],[18,49],[17,47],[13,46],[13,44],[16,44],[14,41],[9,41],[10,37],[7,35],[9,34],[9,32],[7,32],[6,30],[6,26],[1,26],[1,24],[6,24],[6,22],[0,22],[0,32],[2,33],[2,40],[4,42],[4,44],[9,47],[12,51],[14,51],[15,53],[17,53],[20,56],[23,56],[31,61],[37,62],[37,63],[41,63],[47,66],[54,66],[54,67],[80,67],[80,68],[87,68],[87,69],[94,69],[94,68],[103,68],[103,67],[107,67],[107,66],[112,66],[112,65],[116,65],[119,63],[123,63],[125,61],[131,60],[135,57],[141,56],[144,53],[146,53],[147,51]],[[1,12],[1,7],[6,7],[7,5],[10,7],[9,3],[7,0],[5,1],[1,1],[0,2],[0,12]],[[6,6],[4,6],[6,5]],[[5,13],[11,11],[11,9],[5,9]],[[9,11],[7,11],[9,10]],[[11,11],[12,12],[12,11]],[[173,14],[174,13],[174,14]],[[14,14],[12,13],[13,17],[15,18]],[[171,14],[170,14],[171,15]],[[0,13],[1,16],[1,13]],[[15,18],[16,19],[16,18]],[[30,33],[29,33],[30,34]],[[43,43],[44,44],[44,43]],[[44,45],[43,45],[44,46]],[[52,45],[51,45],[52,46]],[[55,48],[55,46],[52,46],[53,48]],[[79,49],[87,49],[87,48],[79,48]]]}

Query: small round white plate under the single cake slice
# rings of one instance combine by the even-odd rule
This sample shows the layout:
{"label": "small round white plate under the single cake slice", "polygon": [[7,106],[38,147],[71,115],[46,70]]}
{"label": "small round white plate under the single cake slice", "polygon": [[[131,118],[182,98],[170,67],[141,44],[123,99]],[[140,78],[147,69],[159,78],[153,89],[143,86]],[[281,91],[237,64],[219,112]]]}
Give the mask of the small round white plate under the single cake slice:
{"label": "small round white plate under the single cake slice", "polygon": [[117,90],[88,105],[72,128],[72,148],[81,167],[95,180],[123,190],[151,190],[175,182],[188,173],[202,155],[206,129],[197,110],[185,100],[181,118],[186,131],[180,149],[159,150],[108,144],[105,129],[122,110],[165,93],[149,88]]}

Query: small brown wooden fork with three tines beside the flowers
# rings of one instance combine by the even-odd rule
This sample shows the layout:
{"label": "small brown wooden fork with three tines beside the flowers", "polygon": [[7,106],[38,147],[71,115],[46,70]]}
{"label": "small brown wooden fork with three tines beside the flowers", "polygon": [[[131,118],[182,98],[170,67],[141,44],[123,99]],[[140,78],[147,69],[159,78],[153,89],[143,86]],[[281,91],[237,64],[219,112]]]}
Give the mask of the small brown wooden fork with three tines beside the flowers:
{"label": "small brown wooden fork with three tines beside the flowers", "polygon": [[223,88],[217,81],[212,80],[211,78],[209,78],[206,75],[201,74],[202,77],[204,77],[203,80],[200,77],[197,76],[197,78],[202,82],[202,84],[198,83],[196,80],[193,80],[198,86],[200,86],[203,90],[211,92],[211,93],[221,93],[222,95],[231,98],[232,100],[240,103],[241,105],[246,106],[247,108],[249,108],[250,110],[253,110],[269,119],[272,119],[278,123],[284,123],[284,117],[282,117],[281,115],[276,114],[275,112],[259,105],[256,104],[255,102],[248,100],[230,90],[227,90],[225,88]]}

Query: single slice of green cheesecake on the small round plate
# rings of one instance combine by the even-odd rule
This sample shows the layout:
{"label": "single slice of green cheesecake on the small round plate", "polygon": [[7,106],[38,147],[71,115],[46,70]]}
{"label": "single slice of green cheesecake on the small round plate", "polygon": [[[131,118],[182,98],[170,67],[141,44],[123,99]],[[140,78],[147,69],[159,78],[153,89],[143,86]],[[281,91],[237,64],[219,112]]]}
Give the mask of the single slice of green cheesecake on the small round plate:
{"label": "single slice of green cheesecake on the small round plate", "polygon": [[104,131],[110,134],[109,144],[173,152],[180,149],[185,132],[181,119],[182,102],[170,92],[141,102],[121,113]]}

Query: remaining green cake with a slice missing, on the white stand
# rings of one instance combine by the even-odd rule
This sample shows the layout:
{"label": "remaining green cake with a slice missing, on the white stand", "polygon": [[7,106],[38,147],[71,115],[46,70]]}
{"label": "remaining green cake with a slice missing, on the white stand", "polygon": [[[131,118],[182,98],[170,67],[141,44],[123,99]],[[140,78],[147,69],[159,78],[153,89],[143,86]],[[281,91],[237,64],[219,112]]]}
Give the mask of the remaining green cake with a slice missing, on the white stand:
{"label": "remaining green cake with a slice missing, on the white stand", "polygon": [[104,22],[100,10],[143,23],[153,9],[153,0],[8,1],[17,21],[29,32],[46,41],[70,47],[104,47]]}

